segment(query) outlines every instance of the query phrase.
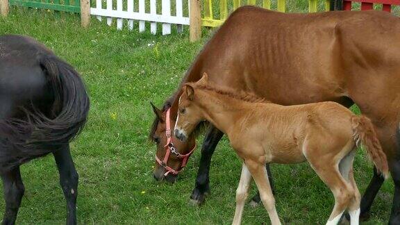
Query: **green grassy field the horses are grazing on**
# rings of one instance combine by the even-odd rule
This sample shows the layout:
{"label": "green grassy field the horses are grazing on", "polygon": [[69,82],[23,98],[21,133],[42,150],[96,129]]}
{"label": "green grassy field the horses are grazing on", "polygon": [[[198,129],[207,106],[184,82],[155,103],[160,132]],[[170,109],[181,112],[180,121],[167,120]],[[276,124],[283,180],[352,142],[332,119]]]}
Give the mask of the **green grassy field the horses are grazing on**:
{"label": "green grassy field the horses are grazing on", "polygon": [[[298,1],[294,1],[298,3]],[[201,42],[188,42],[188,31],[168,36],[92,20],[83,30],[78,17],[11,9],[0,18],[0,34],[31,35],[81,72],[92,108],[88,126],[72,143],[80,183],[79,224],[230,224],[240,161],[226,139],[219,143],[210,172],[211,196],[201,207],[189,204],[200,158],[196,151],[174,185],[153,180],[155,147],[147,140],[153,113],[181,81],[186,69],[213,31],[204,29]],[[147,24],[148,26],[148,24]],[[137,28],[137,26],[136,26]],[[199,138],[201,143],[201,137]],[[324,224],[333,196],[307,164],[274,165],[276,207],[285,224]],[[372,165],[358,152],[355,174],[361,192]],[[26,195],[18,224],[64,224],[65,200],[52,156],[22,166]],[[255,192],[255,185],[251,193]],[[392,181],[384,183],[368,224],[387,222]],[[1,212],[4,203],[0,201]],[[244,224],[269,224],[263,207],[244,209]]]}

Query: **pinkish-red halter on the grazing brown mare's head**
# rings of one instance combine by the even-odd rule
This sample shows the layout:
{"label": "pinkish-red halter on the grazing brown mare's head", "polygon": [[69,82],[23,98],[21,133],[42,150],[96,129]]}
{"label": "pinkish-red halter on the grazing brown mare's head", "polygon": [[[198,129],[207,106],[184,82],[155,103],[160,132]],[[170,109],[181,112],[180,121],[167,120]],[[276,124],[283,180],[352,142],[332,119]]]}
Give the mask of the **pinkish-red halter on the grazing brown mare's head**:
{"label": "pinkish-red halter on the grazing brown mare's head", "polygon": [[[167,136],[167,144],[165,144],[165,148],[166,148],[165,149],[165,157],[163,160],[160,160],[156,154],[157,163],[160,166],[164,167],[165,170],[167,170],[167,172],[164,174],[164,176],[167,176],[169,173],[178,174],[179,172],[181,172],[183,167],[186,166],[186,163],[188,163],[188,159],[189,159],[190,155],[192,155],[194,149],[196,149],[196,145],[194,145],[194,148],[192,149],[192,151],[190,151],[189,153],[187,153],[185,155],[182,155],[181,153],[178,153],[178,151],[176,151],[176,148],[174,147],[174,143],[172,142],[171,122],[169,119],[169,110],[170,109],[171,108],[168,108],[167,115],[165,115],[165,123],[166,123],[165,135]],[[175,170],[175,169],[172,169],[171,167],[167,166],[170,153],[174,153],[177,158],[183,159],[180,170]]]}

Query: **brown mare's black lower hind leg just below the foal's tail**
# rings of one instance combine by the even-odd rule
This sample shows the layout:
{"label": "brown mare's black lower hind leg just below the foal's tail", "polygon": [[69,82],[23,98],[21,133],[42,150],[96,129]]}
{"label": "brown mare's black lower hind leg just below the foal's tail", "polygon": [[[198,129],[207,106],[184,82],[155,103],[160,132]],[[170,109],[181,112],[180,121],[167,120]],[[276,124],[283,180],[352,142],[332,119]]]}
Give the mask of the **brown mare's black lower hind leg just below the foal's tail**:
{"label": "brown mare's black lower hind leg just below the foal's tail", "polygon": [[371,210],[372,203],[378,194],[378,190],[381,188],[383,181],[385,178],[381,174],[378,174],[376,167],[374,167],[374,176],[372,176],[371,181],[365,190],[363,198],[361,199],[360,204],[360,220],[369,219],[369,210]]}

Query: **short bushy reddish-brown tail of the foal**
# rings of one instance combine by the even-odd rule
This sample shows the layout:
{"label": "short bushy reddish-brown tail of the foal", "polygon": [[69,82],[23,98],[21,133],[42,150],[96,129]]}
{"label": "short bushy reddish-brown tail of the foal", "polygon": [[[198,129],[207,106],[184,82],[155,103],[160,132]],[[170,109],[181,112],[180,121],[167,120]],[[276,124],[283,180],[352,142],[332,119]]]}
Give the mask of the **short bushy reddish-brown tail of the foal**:
{"label": "short bushy reddish-brown tail of the foal", "polygon": [[369,159],[372,160],[378,172],[381,172],[387,178],[389,176],[389,167],[386,155],[376,137],[371,120],[363,115],[354,116],[351,118],[351,126],[353,127],[353,137],[357,146],[363,144],[367,150]]}

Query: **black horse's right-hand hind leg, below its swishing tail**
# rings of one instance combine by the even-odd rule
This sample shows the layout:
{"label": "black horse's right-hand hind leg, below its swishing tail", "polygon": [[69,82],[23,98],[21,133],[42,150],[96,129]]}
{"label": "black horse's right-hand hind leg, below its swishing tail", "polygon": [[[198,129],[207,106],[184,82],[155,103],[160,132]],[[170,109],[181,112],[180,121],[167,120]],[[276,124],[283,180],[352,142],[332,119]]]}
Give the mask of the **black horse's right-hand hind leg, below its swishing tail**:
{"label": "black horse's right-hand hind leg, below its swishing tail", "polygon": [[53,153],[60,173],[60,185],[67,201],[67,224],[76,224],[76,196],[78,195],[78,173],[72,160],[69,144]]}

